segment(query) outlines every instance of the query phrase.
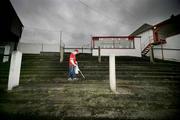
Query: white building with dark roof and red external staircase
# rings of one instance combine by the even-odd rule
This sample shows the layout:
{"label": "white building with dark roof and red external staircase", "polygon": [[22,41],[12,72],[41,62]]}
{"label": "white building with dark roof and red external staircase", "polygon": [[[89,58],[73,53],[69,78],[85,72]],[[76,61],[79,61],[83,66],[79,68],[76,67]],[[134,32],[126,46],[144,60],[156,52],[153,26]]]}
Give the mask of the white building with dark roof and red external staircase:
{"label": "white building with dark roof and red external staircase", "polygon": [[[154,58],[180,62],[180,15],[158,23],[144,24],[131,35],[141,37],[141,53],[149,56],[153,46]],[[145,52],[144,52],[145,51]]]}

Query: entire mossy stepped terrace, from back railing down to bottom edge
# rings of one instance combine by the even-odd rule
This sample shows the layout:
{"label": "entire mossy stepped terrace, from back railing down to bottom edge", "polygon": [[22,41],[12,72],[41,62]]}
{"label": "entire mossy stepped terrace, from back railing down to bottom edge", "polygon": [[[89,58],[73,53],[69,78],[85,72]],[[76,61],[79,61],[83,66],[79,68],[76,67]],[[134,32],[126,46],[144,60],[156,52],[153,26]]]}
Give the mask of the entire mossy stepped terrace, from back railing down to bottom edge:
{"label": "entire mossy stepped terrace, from back railing down to bottom edge", "polygon": [[[23,55],[20,86],[0,94],[5,119],[180,119],[180,63],[116,57],[117,94],[109,90],[108,57],[77,56],[86,80],[67,81],[68,57]],[[81,78],[81,76],[79,76]]]}

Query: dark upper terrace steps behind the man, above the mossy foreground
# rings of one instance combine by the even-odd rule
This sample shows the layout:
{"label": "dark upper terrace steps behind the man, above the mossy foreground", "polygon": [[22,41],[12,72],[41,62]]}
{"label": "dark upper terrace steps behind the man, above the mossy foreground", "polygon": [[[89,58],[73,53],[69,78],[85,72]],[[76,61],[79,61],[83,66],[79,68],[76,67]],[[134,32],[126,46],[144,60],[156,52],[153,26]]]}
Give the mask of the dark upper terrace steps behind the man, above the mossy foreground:
{"label": "dark upper terrace steps behind the man, above the mossy foreground", "polygon": [[[63,63],[59,63],[59,56],[50,55],[23,55],[21,79],[56,79],[67,78],[68,57],[65,55]],[[109,79],[108,57],[97,57],[90,54],[78,55],[79,67],[87,79]],[[116,76],[119,79],[179,79],[180,64],[161,61],[151,64],[147,58],[116,57]]]}

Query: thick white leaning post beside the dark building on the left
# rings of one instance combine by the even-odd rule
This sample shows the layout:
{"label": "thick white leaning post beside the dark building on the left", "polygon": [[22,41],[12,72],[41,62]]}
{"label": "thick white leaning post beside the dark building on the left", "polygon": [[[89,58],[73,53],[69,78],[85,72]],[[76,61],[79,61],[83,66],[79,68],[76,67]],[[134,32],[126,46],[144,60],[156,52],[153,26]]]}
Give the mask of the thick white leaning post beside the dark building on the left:
{"label": "thick white leaning post beside the dark building on the left", "polygon": [[20,70],[21,70],[22,53],[20,51],[13,51],[11,56],[8,90],[19,85]]}

